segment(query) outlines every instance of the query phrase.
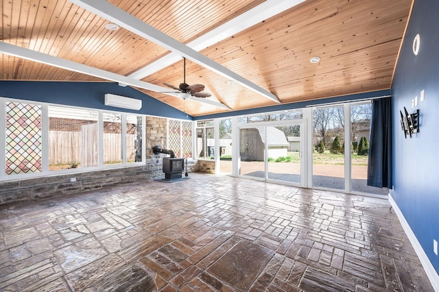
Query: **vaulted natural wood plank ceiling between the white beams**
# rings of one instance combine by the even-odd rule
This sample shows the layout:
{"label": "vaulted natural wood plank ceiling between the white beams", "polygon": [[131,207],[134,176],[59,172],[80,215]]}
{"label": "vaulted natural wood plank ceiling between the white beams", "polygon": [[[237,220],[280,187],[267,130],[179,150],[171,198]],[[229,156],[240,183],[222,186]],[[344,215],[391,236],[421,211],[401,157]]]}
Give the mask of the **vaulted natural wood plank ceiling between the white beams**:
{"label": "vaulted natural wood plank ceiling between the white beams", "polygon": [[[187,44],[262,4],[263,0],[111,0],[148,25]],[[1,2],[0,40],[50,56],[128,76],[161,60],[168,49],[67,0]],[[388,89],[412,0],[307,0],[200,51],[265,88],[282,104]],[[320,62],[311,64],[310,58]],[[92,82],[97,77],[1,53],[0,80]],[[178,86],[182,58],[144,82]],[[187,60],[187,84],[204,84],[209,97],[231,110],[275,105],[239,83]],[[224,108],[142,90],[193,116]]]}

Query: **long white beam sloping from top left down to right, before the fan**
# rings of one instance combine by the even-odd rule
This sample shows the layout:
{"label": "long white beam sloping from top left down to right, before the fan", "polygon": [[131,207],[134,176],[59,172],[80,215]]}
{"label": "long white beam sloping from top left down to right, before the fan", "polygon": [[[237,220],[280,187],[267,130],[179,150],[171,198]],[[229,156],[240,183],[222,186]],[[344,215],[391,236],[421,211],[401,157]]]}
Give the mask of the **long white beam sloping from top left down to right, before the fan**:
{"label": "long white beam sloping from top left down to right, before the fan", "polygon": [[136,17],[132,16],[128,12],[125,12],[124,10],[117,8],[115,5],[112,5],[111,3],[108,3],[105,0],[69,0],[69,1],[71,1],[75,5],[84,8],[85,10],[88,10],[90,12],[93,12],[94,14],[97,14],[98,16],[101,16],[104,19],[107,19],[108,21],[111,21],[112,23],[116,23],[117,25],[125,29],[128,29],[130,32],[133,32],[134,34],[146,38],[147,40],[151,40],[152,42],[155,42],[156,44],[161,45],[166,49],[169,49],[169,51],[178,53],[180,54],[180,56],[188,58],[189,60],[192,60],[193,62],[204,66],[206,69],[218,73],[219,75],[222,75],[230,80],[234,80],[235,82],[245,86],[250,90],[253,90],[256,93],[259,93],[260,95],[263,95],[268,99],[271,99],[272,101],[275,101],[276,103],[281,103],[281,101],[276,97],[276,95],[270,93],[268,90],[265,90],[264,88],[257,86],[253,82],[246,80],[241,75],[227,69],[226,67],[222,66],[221,64],[218,64],[217,62],[214,62],[210,58],[207,58],[201,53],[198,53],[198,51],[191,49],[191,47],[188,47],[182,42],[178,42],[178,40],[171,38],[167,34],[164,34],[158,29],[155,29],[151,25],[144,23],[140,19],[137,19]]}

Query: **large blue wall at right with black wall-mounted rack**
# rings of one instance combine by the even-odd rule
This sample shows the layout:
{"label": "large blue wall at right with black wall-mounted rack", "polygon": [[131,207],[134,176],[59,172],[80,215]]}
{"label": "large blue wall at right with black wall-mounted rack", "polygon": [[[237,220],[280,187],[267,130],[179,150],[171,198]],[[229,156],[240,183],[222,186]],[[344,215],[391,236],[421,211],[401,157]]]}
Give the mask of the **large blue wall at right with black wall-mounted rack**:
{"label": "large blue wall at right with black wall-mounted rack", "polygon": [[[433,239],[439,241],[439,1],[416,0],[403,40],[392,84],[393,180],[391,195],[420,245],[439,271]],[[420,34],[418,56],[413,39]],[[412,99],[425,90],[418,103],[420,133],[404,138],[399,110],[409,112]]]}

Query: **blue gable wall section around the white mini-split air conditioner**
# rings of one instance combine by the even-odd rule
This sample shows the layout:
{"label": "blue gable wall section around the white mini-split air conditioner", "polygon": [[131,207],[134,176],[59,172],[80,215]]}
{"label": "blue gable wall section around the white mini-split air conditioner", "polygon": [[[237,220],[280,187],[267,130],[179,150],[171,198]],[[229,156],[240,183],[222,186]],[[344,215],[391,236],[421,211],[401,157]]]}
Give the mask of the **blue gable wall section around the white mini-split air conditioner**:
{"label": "blue gable wall section around the white mini-split air conditioner", "polygon": [[[140,110],[127,110],[104,105],[106,93],[142,100]],[[157,99],[141,93],[130,86],[122,87],[115,82],[25,82],[0,81],[0,97],[41,101],[66,106],[80,106],[118,112],[149,114],[158,117],[192,120],[184,112]]]}

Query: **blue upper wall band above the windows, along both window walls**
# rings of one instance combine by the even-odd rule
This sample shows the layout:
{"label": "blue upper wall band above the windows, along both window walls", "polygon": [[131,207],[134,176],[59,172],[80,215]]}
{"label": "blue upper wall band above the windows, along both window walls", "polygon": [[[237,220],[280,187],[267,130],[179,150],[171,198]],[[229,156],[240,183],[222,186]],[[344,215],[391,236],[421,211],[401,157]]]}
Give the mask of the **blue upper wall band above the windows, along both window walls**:
{"label": "blue upper wall band above the windows, along both window walls", "polygon": [[[112,93],[125,97],[132,97],[142,100],[142,108],[127,110],[104,105],[104,95]],[[231,117],[242,114],[257,114],[278,110],[291,110],[305,108],[306,106],[326,104],[341,101],[353,101],[357,99],[368,99],[390,95],[390,90],[372,91],[359,93],[357,95],[343,95],[327,99],[313,101],[302,101],[294,104],[281,104],[267,106],[264,108],[252,108],[250,110],[227,111],[221,114],[210,114],[200,117],[188,116],[157,99],[141,93],[130,86],[122,87],[115,82],[29,82],[29,81],[0,81],[0,97],[12,99],[23,99],[28,101],[40,101],[49,104],[62,104],[66,106],[79,106],[85,108],[97,108],[101,110],[115,110],[118,112],[132,112],[138,114],[149,114],[157,117],[168,117],[173,119],[202,120]]]}

